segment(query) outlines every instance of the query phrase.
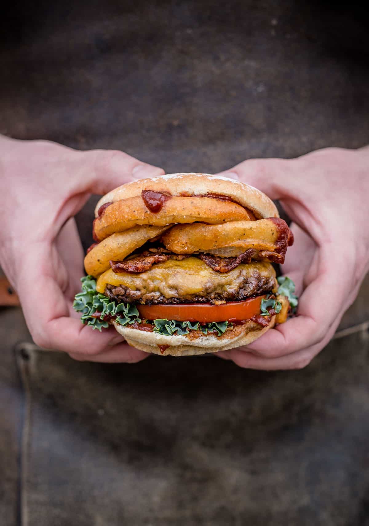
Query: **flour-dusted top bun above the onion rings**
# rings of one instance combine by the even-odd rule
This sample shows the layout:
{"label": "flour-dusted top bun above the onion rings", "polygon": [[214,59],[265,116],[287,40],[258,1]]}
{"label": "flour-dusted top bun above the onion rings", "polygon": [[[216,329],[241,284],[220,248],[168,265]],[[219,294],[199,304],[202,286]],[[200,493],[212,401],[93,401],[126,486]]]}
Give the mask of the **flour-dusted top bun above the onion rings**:
{"label": "flour-dusted top bun above the onion rings", "polygon": [[221,175],[194,173],[160,175],[152,179],[139,179],[118,186],[98,201],[95,217],[97,217],[98,209],[105,203],[115,203],[121,199],[140,196],[142,190],[168,192],[173,196],[179,196],[183,193],[199,196],[220,194],[228,196],[236,203],[252,210],[257,219],[279,217],[273,201],[257,188]]}

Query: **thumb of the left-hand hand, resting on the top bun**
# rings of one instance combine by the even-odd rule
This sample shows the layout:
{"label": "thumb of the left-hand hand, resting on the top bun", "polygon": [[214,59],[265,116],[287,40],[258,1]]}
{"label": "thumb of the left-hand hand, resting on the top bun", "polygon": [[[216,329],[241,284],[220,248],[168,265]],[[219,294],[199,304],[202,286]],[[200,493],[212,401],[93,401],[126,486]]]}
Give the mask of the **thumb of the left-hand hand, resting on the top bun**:
{"label": "thumb of the left-hand hand, resting on the top bun", "polygon": [[81,154],[88,174],[85,190],[92,194],[103,195],[134,179],[165,173],[162,168],[144,163],[119,150],[90,150]]}

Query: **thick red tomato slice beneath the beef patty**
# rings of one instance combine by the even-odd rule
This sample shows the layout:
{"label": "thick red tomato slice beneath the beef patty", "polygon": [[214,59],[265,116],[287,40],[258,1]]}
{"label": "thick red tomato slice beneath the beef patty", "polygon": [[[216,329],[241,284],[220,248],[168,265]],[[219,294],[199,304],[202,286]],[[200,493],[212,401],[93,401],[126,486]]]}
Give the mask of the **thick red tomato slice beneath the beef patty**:
{"label": "thick red tomato slice beneath the beef patty", "polygon": [[222,305],[187,303],[181,305],[136,305],[141,318],[146,320],[168,319],[177,321],[243,321],[260,314],[264,296],[245,301],[228,301]]}

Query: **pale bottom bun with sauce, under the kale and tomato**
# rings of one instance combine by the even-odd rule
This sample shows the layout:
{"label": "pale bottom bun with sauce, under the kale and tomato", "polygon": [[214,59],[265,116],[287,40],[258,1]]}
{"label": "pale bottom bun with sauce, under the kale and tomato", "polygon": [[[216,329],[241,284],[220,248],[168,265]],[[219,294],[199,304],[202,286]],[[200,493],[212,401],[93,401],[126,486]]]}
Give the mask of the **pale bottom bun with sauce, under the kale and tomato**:
{"label": "pale bottom bun with sauce, under the kale and tomato", "polygon": [[[249,345],[260,338],[268,329],[274,327],[275,316],[267,327],[261,327],[252,320],[243,325],[235,325],[227,329],[222,336],[204,335],[201,331],[191,331],[183,336],[164,336],[157,332],[146,332],[123,327],[113,322],[115,329],[124,336],[128,345],[145,352],[161,356],[192,356],[204,355],[206,352],[218,352]],[[159,346],[168,346],[160,349]]]}

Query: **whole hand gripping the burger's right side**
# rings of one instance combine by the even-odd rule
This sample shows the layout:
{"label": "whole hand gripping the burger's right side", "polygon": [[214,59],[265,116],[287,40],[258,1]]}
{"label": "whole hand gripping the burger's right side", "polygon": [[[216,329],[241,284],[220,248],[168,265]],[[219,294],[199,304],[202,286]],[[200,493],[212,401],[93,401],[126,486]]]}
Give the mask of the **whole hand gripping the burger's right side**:
{"label": "whole hand gripping the burger's right side", "polygon": [[219,355],[250,369],[303,368],[330,341],[369,269],[369,147],[251,159],[222,175],[281,201],[295,237],[282,270],[301,297],[296,318]]}

